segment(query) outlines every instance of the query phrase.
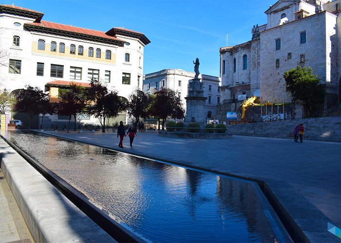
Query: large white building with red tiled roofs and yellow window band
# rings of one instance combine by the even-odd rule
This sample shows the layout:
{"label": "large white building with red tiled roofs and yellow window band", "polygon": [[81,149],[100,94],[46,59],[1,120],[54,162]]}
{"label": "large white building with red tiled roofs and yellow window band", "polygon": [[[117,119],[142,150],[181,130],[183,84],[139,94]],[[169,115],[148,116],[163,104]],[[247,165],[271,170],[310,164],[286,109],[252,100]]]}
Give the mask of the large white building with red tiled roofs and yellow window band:
{"label": "large white building with red tiled roofs and yellow window band", "polygon": [[107,32],[42,20],[43,13],[0,5],[2,88],[44,88],[49,82],[102,80],[128,98],[142,88],[143,51],[150,40],[123,28]]}

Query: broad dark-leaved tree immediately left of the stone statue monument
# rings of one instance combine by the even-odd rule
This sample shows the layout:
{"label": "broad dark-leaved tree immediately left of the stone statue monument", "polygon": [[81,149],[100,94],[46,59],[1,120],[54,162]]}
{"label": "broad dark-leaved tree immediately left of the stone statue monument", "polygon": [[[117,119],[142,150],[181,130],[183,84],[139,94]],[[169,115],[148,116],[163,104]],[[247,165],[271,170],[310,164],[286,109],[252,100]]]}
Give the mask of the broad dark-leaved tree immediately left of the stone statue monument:
{"label": "broad dark-leaved tree immediately left of the stone statue monument", "polygon": [[[165,121],[168,117],[184,118],[185,115],[180,97],[170,88],[161,88],[154,93],[148,111],[158,121],[162,119],[162,130],[164,130]],[[158,123],[160,129],[160,122]]]}

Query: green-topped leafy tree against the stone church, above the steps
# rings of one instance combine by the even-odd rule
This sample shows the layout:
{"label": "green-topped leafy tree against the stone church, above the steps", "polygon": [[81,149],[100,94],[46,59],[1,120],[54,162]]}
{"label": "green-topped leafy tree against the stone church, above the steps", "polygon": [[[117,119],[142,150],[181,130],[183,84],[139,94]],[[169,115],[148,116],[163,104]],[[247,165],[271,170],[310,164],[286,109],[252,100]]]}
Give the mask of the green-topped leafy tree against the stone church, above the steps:
{"label": "green-topped leafy tree against the stone church, above the steps", "polygon": [[293,101],[303,101],[309,114],[315,111],[319,104],[324,103],[325,90],[317,75],[312,74],[310,67],[299,67],[284,72],[286,91],[291,93]]}

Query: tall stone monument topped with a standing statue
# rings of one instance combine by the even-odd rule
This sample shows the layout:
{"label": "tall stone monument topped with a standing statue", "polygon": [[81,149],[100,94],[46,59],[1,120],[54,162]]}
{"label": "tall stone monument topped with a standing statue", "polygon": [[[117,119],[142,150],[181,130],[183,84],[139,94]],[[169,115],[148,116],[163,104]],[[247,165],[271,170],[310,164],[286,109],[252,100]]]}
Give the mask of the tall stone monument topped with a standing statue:
{"label": "tall stone monument topped with a standing statue", "polygon": [[205,112],[205,103],[207,97],[204,97],[203,83],[200,82],[199,76],[199,58],[196,58],[194,64],[195,76],[189,82],[188,95],[186,99],[186,116],[185,126],[190,122],[199,123],[201,128],[205,128],[207,124],[207,113]]}

